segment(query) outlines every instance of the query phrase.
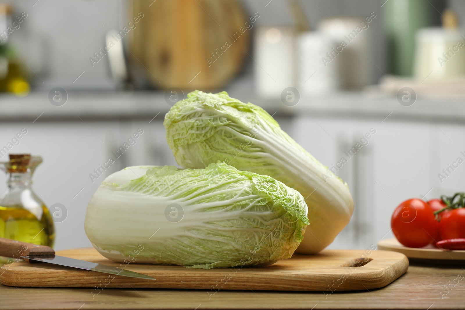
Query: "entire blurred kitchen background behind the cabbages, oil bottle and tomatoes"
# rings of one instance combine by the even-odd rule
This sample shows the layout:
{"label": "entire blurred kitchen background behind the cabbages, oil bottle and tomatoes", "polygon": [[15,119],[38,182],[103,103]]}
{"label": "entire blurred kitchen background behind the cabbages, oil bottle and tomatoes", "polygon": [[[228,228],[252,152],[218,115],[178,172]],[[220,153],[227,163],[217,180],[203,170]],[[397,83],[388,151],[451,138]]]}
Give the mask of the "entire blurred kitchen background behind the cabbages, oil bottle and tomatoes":
{"label": "entire blurred kitchen background behind the cabbages, oil bottle and tomatoes", "polygon": [[43,158],[32,186],[60,215],[57,250],[90,246],[107,175],[176,165],[163,118],[193,89],[262,106],[348,183],[354,215],[330,248],[368,248],[401,201],[465,189],[465,166],[443,172],[465,158],[465,1],[0,3],[0,161]]}

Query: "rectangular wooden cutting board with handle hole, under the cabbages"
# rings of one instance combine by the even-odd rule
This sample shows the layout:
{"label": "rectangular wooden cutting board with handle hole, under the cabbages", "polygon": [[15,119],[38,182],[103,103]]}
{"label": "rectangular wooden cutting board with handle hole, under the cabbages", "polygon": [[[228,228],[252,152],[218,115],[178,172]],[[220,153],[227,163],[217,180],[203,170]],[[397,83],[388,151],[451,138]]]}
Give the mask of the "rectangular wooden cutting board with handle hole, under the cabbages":
{"label": "rectangular wooden cutting board with handle hole, under the cabbages", "polygon": [[[114,267],[120,265],[101,256],[93,248],[58,251],[57,255]],[[203,270],[152,264],[128,264],[125,267],[126,270],[155,277],[156,280],[21,261],[1,267],[0,283],[26,287],[89,287],[95,290],[95,294],[102,288],[131,287],[204,289],[212,290],[212,293],[216,290],[341,291],[383,287],[404,274],[407,268],[408,259],[404,254],[365,250],[325,250],[317,255],[296,254],[290,259],[260,268]]]}

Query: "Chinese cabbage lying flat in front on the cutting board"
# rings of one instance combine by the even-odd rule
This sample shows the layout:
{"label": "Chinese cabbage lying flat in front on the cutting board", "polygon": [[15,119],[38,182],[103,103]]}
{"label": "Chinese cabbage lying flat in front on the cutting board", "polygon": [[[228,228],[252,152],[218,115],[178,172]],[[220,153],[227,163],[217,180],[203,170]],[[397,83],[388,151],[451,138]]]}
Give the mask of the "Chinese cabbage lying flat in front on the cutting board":
{"label": "Chinese cabbage lying flat in front on the cutting board", "polygon": [[307,224],[298,191],[213,163],[113,173],[87,206],[85,230],[95,249],[114,261],[210,269],[289,258]]}

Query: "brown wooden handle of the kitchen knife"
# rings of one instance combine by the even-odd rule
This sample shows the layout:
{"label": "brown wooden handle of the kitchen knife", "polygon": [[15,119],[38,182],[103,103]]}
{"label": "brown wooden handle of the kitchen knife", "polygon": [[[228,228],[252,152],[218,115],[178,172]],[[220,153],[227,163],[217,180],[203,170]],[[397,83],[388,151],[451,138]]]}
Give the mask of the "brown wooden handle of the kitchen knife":
{"label": "brown wooden handle of the kitchen knife", "polygon": [[0,256],[20,259],[21,256],[28,255],[53,256],[55,255],[55,251],[46,245],[37,245],[12,239],[0,238]]}

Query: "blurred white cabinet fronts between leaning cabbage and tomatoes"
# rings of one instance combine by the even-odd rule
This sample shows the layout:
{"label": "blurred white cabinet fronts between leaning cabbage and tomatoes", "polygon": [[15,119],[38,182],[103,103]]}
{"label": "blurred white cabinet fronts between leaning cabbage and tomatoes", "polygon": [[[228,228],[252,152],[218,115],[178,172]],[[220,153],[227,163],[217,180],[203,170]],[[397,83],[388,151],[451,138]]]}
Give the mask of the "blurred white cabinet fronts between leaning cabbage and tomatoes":
{"label": "blurred white cabinet fronts between leaning cabbage and tomatoes", "polygon": [[[390,219],[408,198],[431,199],[465,188],[465,164],[441,183],[438,173],[457,157],[465,159],[465,126],[398,119],[296,117],[289,134],[315,158],[332,168],[346,158],[336,175],[344,179],[354,198],[350,223],[329,248],[368,248],[393,237]],[[370,129],[370,139],[363,139]],[[453,142],[452,142],[453,141]],[[358,152],[348,150],[360,143]],[[350,157],[352,156],[352,157]]]}

